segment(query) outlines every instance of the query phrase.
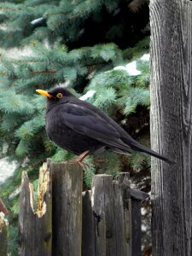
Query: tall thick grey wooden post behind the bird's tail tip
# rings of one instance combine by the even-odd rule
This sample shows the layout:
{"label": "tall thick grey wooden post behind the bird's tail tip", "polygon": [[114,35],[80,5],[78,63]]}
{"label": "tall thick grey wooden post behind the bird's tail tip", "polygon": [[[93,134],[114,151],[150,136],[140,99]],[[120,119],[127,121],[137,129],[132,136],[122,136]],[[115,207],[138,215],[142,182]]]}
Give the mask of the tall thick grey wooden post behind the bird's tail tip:
{"label": "tall thick grey wooden post behind the bird's tail tip", "polygon": [[192,255],[192,3],[151,0],[153,255]]}

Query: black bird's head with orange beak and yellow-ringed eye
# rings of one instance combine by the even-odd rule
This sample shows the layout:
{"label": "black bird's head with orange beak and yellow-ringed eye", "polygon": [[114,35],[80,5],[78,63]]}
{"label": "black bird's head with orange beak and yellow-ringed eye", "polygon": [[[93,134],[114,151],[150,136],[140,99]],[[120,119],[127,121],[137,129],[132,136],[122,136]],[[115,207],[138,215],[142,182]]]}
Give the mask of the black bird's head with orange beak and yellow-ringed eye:
{"label": "black bird's head with orange beak and yellow-ringed eye", "polygon": [[46,90],[36,90],[42,96],[47,97],[48,99],[48,106],[55,105],[58,102],[67,102],[73,94],[63,87],[57,87],[53,90],[46,91]]}

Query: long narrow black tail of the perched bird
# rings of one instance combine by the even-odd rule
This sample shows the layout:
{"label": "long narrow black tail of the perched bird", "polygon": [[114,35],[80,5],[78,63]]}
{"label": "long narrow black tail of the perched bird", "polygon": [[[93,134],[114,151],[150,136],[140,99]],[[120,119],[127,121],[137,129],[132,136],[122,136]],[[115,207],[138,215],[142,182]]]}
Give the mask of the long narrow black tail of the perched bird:
{"label": "long narrow black tail of the perched bird", "polygon": [[131,144],[131,149],[136,150],[136,151],[142,151],[144,153],[150,154],[156,158],[159,158],[160,160],[164,160],[169,164],[174,164],[175,162],[172,160],[167,159],[165,156],[163,156],[162,154],[159,154],[157,152],[155,152],[154,150],[143,146],[140,143],[137,143],[136,141],[133,141],[130,143]]}

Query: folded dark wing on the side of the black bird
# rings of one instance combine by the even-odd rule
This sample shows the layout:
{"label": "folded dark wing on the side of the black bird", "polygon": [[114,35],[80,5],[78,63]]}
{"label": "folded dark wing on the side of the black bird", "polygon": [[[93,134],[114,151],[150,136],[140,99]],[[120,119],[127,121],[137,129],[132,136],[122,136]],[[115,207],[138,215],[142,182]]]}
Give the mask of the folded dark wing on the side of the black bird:
{"label": "folded dark wing on the side of the black bird", "polygon": [[127,152],[131,151],[131,148],[121,140],[119,131],[109,124],[108,120],[103,119],[102,116],[92,110],[68,103],[60,108],[60,115],[63,125],[67,125],[73,131],[94,138],[109,147],[120,148]]}

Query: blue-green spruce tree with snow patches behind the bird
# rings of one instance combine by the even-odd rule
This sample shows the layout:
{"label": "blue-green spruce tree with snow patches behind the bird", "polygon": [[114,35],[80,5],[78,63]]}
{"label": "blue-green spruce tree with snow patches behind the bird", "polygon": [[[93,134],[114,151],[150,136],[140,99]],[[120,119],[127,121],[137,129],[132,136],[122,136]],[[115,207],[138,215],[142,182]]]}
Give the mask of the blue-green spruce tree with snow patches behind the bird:
{"label": "blue-green spruce tree with snow patches behind the bird", "polygon": [[[36,95],[36,89],[67,86],[148,145],[149,64],[141,59],[149,48],[148,3],[8,1],[0,3],[0,23],[0,151],[1,157],[18,162],[0,196],[15,220],[18,195],[9,195],[19,187],[21,172],[27,171],[37,187],[38,168],[46,158],[74,157],[46,136],[45,99]],[[131,61],[137,63],[140,73],[136,76],[127,72]],[[97,172],[115,177],[128,170],[146,172],[150,165],[148,156],[141,153],[128,158],[106,152],[87,162],[84,182],[88,188]],[[15,228],[11,232],[15,236]],[[16,255],[15,242],[11,250]]]}

